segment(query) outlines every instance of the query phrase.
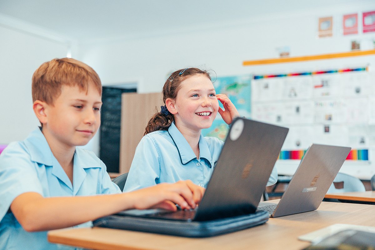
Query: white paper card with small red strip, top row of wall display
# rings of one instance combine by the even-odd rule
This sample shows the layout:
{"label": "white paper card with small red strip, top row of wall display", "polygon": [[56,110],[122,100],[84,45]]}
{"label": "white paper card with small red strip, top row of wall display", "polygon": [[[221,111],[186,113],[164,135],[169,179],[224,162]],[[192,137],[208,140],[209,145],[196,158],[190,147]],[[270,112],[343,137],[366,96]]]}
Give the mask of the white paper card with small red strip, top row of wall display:
{"label": "white paper card with small red strip, top row of wall display", "polygon": [[312,77],[314,97],[339,97],[342,95],[339,74],[321,74]]}

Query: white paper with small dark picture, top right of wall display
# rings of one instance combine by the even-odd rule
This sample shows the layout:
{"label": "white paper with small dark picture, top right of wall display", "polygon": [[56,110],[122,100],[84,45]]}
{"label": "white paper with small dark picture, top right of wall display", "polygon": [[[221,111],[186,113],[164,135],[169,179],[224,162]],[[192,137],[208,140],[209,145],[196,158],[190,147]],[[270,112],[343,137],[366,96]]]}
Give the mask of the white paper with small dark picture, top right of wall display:
{"label": "white paper with small dark picture, top right of wall display", "polygon": [[373,93],[374,84],[371,84],[369,72],[350,72],[340,74],[340,82],[344,88],[345,97],[367,96]]}

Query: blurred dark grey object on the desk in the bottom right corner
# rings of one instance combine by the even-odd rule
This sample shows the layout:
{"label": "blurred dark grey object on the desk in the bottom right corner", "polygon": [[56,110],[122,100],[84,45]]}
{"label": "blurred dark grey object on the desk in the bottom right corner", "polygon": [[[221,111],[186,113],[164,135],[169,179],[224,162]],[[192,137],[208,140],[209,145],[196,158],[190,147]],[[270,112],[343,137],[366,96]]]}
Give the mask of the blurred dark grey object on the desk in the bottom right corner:
{"label": "blurred dark grey object on the desk in the bottom right corner", "polygon": [[303,250],[371,250],[375,249],[375,234],[357,230],[344,230],[324,238]]}

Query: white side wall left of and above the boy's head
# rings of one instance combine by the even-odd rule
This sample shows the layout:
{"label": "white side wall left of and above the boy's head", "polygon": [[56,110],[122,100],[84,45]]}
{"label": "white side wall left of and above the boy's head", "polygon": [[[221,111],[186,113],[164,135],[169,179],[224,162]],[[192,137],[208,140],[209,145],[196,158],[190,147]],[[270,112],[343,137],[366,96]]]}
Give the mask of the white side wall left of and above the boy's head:
{"label": "white side wall left of and above the boy's head", "polygon": [[43,37],[30,25],[27,29],[0,22],[0,144],[23,140],[39,125],[32,109],[31,77],[40,64],[68,52],[68,43]]}

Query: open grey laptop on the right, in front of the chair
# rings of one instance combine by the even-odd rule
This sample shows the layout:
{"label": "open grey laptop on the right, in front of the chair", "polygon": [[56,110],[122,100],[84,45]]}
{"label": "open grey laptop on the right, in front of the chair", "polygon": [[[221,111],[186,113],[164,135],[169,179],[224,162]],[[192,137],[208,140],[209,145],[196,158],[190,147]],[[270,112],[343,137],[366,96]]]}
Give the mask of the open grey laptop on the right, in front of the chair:
{"label": "open grey laptop on the right, in front of the chair", "polygon": [[312,144],[278,204],[261,202],[258,210],[279,217],[316,210],[350,153],[350,147]]}

